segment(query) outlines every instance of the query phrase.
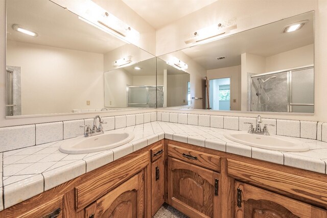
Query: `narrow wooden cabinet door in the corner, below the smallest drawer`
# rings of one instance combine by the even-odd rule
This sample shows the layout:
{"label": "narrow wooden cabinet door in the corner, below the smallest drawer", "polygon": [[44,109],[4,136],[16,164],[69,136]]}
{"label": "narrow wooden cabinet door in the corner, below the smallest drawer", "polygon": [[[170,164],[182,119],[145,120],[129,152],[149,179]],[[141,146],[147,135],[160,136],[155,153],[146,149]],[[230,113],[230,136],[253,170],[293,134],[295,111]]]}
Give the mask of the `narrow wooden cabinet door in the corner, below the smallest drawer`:
{"label": "narrow wooden cabinet door in the corner, below the smallest drawer", "polygon": [[152,216],[165,202],[165,159],[161,156],[151,166]]}

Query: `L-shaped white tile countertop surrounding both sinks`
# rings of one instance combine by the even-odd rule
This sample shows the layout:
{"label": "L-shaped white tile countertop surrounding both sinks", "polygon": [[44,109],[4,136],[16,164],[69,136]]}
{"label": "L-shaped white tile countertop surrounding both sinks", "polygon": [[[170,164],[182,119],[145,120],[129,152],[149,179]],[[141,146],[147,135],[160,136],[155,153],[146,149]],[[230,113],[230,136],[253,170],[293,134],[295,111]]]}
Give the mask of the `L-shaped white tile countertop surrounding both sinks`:
{"label": "L-shaped white tile countertop surrounding both sinks", "polygon": [[0,180],[0,195],[4,195],[4,198],[0,198],[0,210],[163,138],[326,174],[327,142],[295,138],[307,143],[310,150],[280,152],[254,148],[226,139],[223,134],[233,131],[227,129],[166,122],[151,122],[124,129],[133,131],[134,139],[123,146],[102,152],[64,154],[59,151],[63,142],[61,140],[0,153],[3,177]]}

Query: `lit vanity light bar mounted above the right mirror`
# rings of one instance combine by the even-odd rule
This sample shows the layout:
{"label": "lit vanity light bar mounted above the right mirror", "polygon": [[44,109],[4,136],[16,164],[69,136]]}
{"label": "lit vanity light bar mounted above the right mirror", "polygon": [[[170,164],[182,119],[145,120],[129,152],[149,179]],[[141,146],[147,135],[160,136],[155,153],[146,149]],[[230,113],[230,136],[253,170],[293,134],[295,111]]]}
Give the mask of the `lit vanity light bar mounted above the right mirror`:
{"label": "lit vanity light bar mounted above the right mirror", "polygon": [[220,22],[217,25],[206,27],[191,33],[190,36],[184,42],[186,44],[197,42],[207,43],[209,41],[219,39],[222,35],[229,33],[229,31],[236,28],[236,19],[230,19],[228,21]]}

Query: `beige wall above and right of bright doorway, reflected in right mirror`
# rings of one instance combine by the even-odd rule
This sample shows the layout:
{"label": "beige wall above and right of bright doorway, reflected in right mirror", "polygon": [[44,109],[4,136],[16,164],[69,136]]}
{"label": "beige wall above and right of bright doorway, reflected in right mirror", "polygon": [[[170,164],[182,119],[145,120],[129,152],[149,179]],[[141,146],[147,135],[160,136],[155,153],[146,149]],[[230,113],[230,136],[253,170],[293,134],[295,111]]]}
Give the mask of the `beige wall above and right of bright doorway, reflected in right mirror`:
{"label": "beige wall above and right of bright doorway, reflected in right mirror", "polygon": [[208,80],[230,78],[231,110],[241,110],[241,65],[207,70],[206,76]]}

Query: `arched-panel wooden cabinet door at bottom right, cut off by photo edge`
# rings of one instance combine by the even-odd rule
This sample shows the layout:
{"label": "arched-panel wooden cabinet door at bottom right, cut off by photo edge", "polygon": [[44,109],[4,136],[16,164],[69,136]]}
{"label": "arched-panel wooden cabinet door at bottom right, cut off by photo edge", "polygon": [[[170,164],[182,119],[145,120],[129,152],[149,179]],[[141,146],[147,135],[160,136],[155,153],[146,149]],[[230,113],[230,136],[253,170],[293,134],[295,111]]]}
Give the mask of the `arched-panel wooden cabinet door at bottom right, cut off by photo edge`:
{"label": "arched-panel wooden cabinet door at bottom right, cut off by photo edge", "polygon": [[325,210],[258,187],[236,182],[235,188],[237,218],[327,217]]}

